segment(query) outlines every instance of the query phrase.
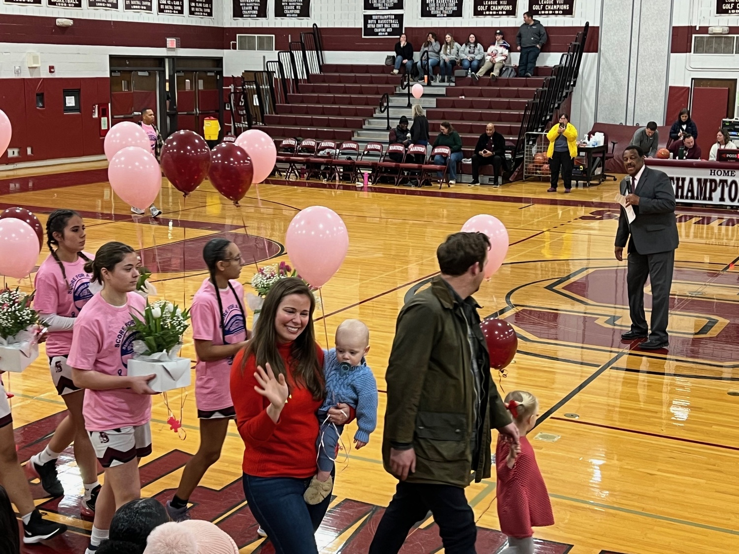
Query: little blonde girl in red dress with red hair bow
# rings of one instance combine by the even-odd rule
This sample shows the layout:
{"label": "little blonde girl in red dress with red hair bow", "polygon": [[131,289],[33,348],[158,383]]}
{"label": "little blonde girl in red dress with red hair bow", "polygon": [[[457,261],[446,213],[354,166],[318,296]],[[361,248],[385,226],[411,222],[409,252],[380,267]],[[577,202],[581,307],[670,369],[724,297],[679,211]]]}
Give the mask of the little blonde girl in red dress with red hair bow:
{"label": "little blonde girl in red dress with red hair bow", "polygon": [[534,554],[531,527],[554,525],[547,486],[526,434],[537,424],[539,401],[533,394],[513,391],[505,397],[519,433],[520,445],[498,437],[495,449],[497,507],[500,530],[508,536],[508,547],[500,554]]}

